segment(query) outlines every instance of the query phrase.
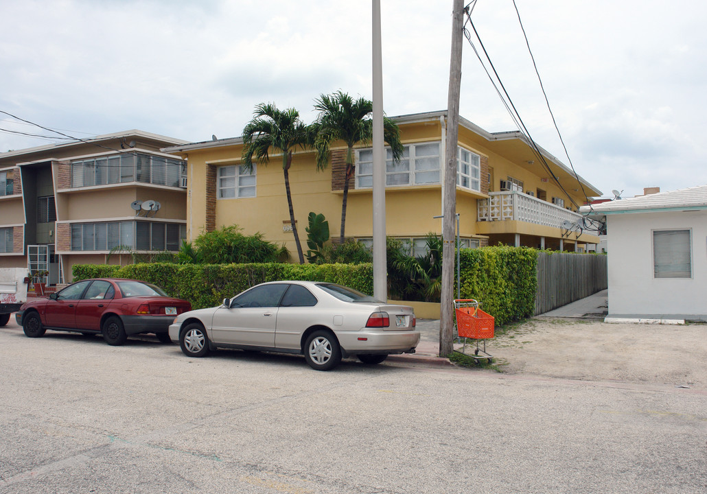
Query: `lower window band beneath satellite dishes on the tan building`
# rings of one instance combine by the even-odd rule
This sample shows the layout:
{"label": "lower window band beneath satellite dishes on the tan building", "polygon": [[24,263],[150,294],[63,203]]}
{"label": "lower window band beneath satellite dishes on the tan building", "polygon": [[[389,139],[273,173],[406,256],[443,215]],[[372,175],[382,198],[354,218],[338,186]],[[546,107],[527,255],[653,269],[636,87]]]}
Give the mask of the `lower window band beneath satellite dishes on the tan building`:
{"label": "lower window band beneath satellite dishes on the tan building", "polygon": [[157,221],[113,221],[71,225],[71,250],[106,251],[115,247],[136,250],[179,250],[187,237],[186,225]]}

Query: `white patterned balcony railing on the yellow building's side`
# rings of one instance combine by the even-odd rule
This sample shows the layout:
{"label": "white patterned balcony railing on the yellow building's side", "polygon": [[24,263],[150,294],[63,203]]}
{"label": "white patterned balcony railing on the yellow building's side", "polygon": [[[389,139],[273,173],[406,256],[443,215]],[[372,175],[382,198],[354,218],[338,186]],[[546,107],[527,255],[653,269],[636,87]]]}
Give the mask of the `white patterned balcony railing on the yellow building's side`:
{"label": "white patterned balcony railing on the yellow building's side", "polygon": [[569,223],[583,225],[591,221],[583,219],[578,213],[522,192],[491,192],[489,196],[489,199],[478,199],[478,221],[515,220],[554,228],[565,228]]}

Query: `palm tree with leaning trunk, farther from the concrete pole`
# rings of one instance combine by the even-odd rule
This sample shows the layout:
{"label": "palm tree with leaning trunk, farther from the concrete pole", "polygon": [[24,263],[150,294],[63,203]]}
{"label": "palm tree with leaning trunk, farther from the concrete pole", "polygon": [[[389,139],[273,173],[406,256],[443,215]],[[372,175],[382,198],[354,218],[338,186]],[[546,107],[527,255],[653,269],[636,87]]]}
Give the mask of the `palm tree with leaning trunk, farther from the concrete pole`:
{"label": "palm tree with leaning trunk, farther from the concrete pole", "polygon": [[[260,103],[255,107],[253,118],[243,129],[243,165],[252,172],[253,160],[259,165],[267,165],[270,161],[269,149],[274,148],[282,153],[282,171],[285,176],[285,191],[287,204],[290,208],[290,222],[292,233],[295,235],[297,254],[300,264],[305,258],[297,235],[297,223],[292,207],[290,194],[289,170],[292,165],[292,153],[297,146],[305,148],[308,143],[308,128],[300,120],[300,113],[294,108],[278,110],[274,104]],[[318,167],[318,166],[317,166]]]}

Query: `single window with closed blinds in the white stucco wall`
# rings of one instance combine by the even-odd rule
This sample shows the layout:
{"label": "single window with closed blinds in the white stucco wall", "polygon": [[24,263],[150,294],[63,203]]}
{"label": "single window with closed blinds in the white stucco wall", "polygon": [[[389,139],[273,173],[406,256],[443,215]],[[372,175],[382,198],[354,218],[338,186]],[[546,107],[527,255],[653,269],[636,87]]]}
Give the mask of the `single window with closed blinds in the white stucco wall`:
{"label": "single window with closed blinds in the white stucco wall", "polygon": [[655,278],[691,278],[690,230],[653,232],[653,268]]}

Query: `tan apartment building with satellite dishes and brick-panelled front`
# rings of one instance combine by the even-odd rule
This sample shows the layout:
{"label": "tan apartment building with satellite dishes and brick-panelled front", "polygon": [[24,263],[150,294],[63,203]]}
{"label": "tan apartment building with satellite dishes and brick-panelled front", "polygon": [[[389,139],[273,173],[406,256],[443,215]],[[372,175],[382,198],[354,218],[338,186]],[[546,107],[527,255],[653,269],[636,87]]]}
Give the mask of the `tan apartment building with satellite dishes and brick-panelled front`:
{"label": "tan apartment building with satellite dishes and brick-panelled front", "polygon": [[[0,153],[0,267],[71,281],[74,264],[176,251],[187,233],[186,141],[131,130]],[[120,246],[120,247],[119,247]]]}

